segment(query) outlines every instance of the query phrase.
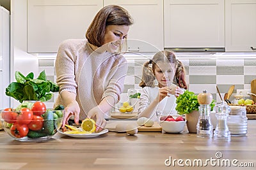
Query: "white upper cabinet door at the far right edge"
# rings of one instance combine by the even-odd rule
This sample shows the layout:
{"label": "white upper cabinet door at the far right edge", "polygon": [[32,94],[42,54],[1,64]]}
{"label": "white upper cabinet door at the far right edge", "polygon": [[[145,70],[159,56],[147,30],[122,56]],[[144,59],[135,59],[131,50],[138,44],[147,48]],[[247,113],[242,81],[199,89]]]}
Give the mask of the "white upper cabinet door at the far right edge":
{"label": "white upper cabinet door at the far right edge", "polygon": [[256,52],[256,0],[226,0],[225,8],[226,52]]}

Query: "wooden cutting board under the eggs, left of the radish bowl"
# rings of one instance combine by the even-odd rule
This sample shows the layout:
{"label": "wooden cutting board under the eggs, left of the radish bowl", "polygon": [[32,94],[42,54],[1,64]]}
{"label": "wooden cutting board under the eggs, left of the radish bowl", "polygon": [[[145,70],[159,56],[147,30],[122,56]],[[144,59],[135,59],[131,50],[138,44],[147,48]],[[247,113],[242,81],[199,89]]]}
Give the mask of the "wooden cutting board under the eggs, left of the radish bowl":
{"label": "wooden cutting board under the eggs, left of the radish bowl", "polygon": [[[109,131],[116,131],[116,125],[117,124],[132,124],[132,125],[137,125],[136,121],[108,121],[106,125],[106,129]],[[154,125],[152,127],[145,127],[145,126],[138,126],[138,131],[139,132],[162,132],[162,128],[158,124],[158,122],[154,122]]]}

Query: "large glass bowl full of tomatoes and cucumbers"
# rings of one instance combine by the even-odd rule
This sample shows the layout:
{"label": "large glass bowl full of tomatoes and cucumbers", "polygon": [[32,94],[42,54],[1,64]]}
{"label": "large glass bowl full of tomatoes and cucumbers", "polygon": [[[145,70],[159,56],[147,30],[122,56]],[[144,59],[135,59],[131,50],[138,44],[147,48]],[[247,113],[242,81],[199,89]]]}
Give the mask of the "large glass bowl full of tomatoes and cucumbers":
{"label": "large glass bowl full of tomatoes and cucumbers", "polygon": [[60,129],[63,110],[1,110],[0,119],[4,131],[17,141],[45,141]]}

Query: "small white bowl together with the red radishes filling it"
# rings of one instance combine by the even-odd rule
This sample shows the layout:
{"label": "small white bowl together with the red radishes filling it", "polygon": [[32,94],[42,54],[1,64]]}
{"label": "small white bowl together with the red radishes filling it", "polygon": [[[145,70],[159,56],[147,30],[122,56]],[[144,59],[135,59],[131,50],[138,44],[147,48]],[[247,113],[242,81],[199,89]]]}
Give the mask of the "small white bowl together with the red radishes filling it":
{"label": "small white bowl together with the red radishes filling it", "polygon": [[187,120],[177,114],[177,111],[157,111],[156,115],[164,132],[180,133],[184,131]]}

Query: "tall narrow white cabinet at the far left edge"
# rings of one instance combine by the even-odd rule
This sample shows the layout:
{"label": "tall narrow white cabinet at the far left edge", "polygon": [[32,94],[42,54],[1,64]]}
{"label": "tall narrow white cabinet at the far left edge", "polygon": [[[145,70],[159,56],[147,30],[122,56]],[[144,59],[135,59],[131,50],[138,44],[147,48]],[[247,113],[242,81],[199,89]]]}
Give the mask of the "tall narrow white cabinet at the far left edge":
{"label": "tall narrow white cabinet at the far left edge", "polygon": [[0,110],[10,107],[5,88],[10,84],[10,12],[0,6]]}

